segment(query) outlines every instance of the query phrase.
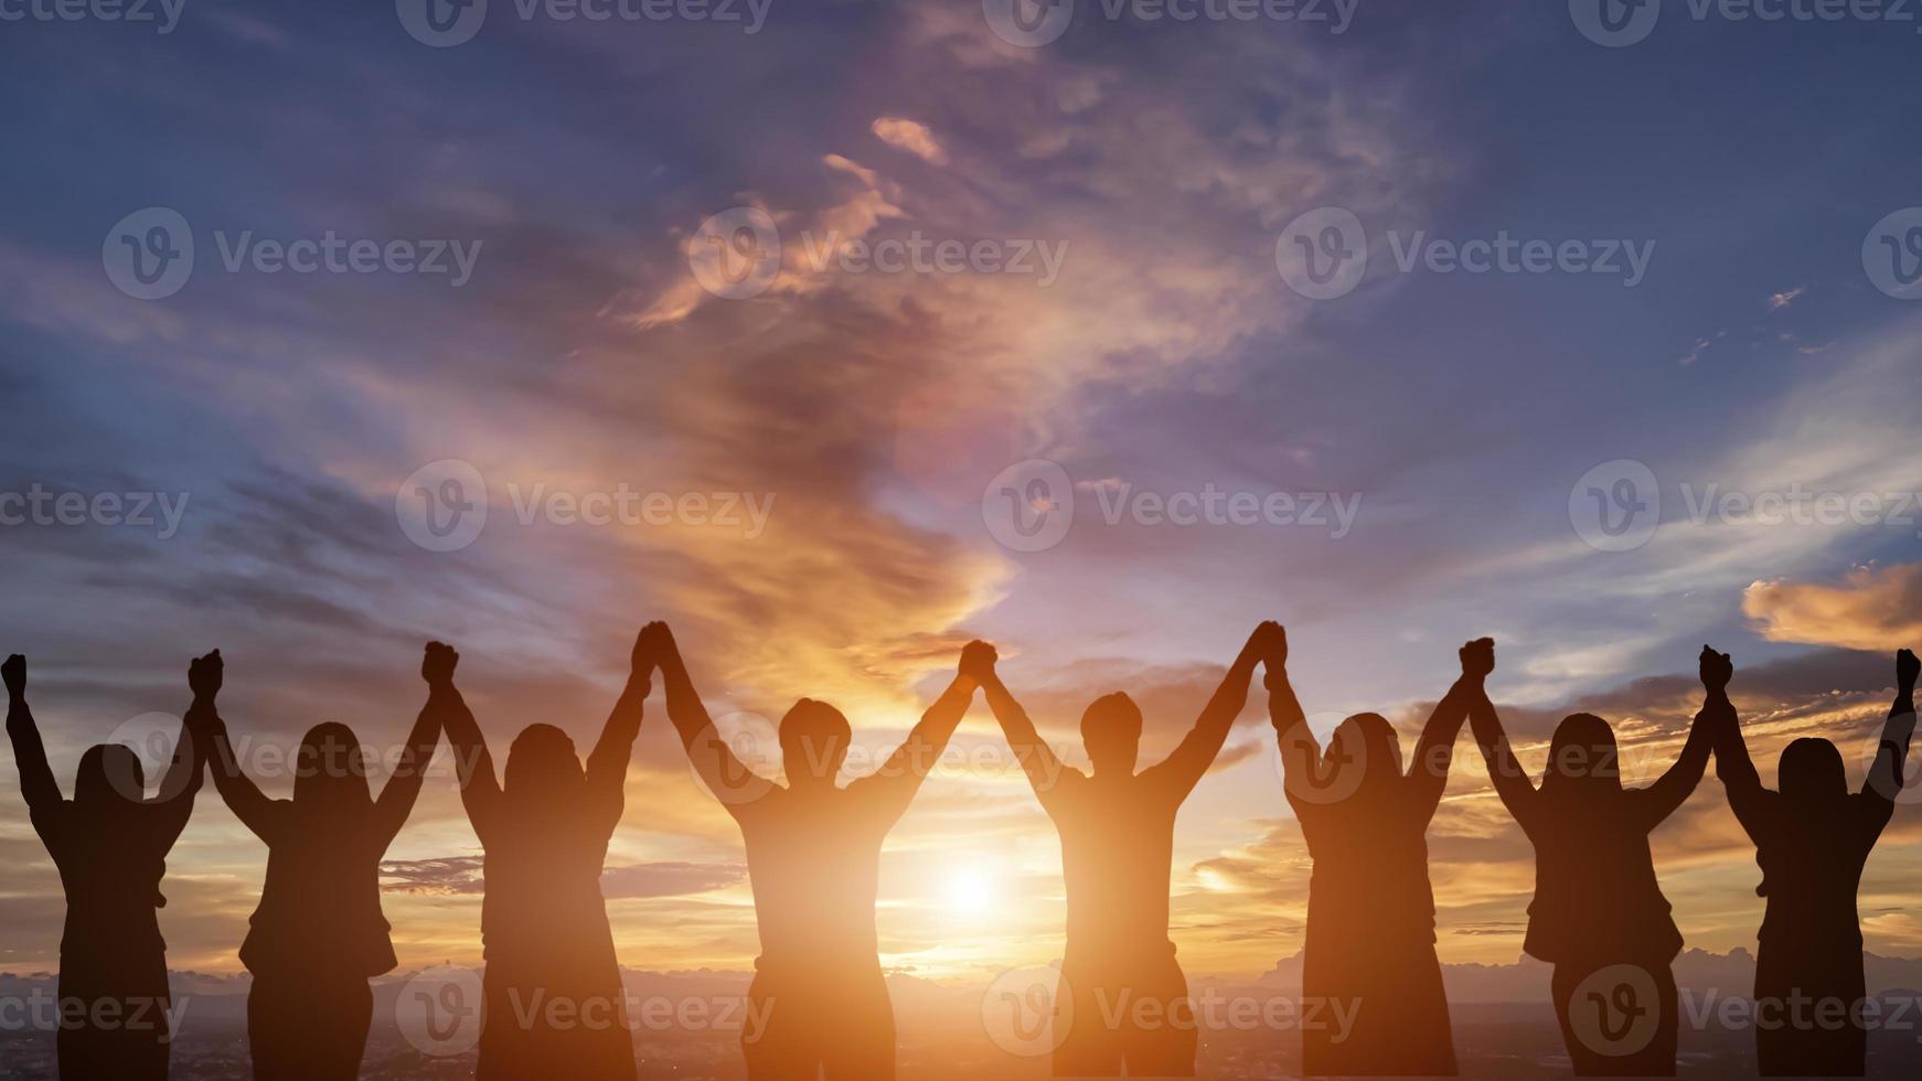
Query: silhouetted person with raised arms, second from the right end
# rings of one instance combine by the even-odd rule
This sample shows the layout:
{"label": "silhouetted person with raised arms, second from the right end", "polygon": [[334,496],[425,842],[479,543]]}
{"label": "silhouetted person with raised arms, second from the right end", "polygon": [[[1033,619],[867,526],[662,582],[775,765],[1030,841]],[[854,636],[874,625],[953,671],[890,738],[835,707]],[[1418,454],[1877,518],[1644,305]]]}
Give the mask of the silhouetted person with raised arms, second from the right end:
{"label": "silhouetted person with raised arms, second from the right end", "polygon": [[[1703,651],[1705,666],[1709,659]],[[1582,1077],[1674,1077],[1680,1008],[1668,966],[1682,931],[1655,879],[1649,833],[1701,783],[1714,737],[1707,716],[1695,714],[1661,780],[1624,789],[1614,730],[1572,714],[1555,726],[1536,789],[1493,703],[1478,695],[1468,705],[1495,793],[1536,849],[1522,950],[1555,966],[1555,1018]]]}

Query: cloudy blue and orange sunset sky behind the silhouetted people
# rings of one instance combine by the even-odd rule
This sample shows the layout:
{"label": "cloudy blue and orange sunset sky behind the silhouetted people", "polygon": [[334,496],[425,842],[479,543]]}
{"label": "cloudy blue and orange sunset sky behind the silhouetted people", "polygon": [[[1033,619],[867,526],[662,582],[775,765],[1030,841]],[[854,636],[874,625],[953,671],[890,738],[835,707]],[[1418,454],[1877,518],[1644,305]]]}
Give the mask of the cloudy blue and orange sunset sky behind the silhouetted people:
{"label": "cloudy blue and orange sunset sky behind the silhouetted people", "polygon": [[[1028,48],[971,0],[775,0],[755,33],[530,13],[494,0],[450,48],[379,2],[186,0],[167,35],[0,25],[0,492],[186,499],[173,532],[0,526],[0,653],[29,657],[69,791],[86,745],[173,724],[156,714],[186,707],[186,661],[213,647],[223,714],[256,749],[333,720],[390,753],[438,637],[496,755],[530,722],[586,751],[652,618],[742,739],[801,695],[838,705],[850,774],[971,637],[1069,751],[1086,703],[1126,689],[1157,760],[1276,618],[1322,732],[1378,710],[1411,745],[1461,641],[1493,636],[1490,689],[1530,768],[1586,709],[1653,778],[1707,641],[1736,659],[1764,780],[1805,733],[1860,778],[1889,655],[1922,647],[1922,507],[1901,495],[1922,490],[1922,305],[1864,269],[1878,223],[1922,204],[1912,25],[1670,4],[1647,40],[1605,48],[1561,2],[1361,0],[1332,33],[1109,21],[1082,0]],[[196,248],[161,300],[108,273],[144,207],[179,211]],[[782,238],[778,275],[738,300],[696,278],[702,223],[734,207]],[[1367,230],[1368,273],[1334,300],[1276,265],[1318,207]],[[329,232],[475,259],[461,284],[223,259],[242,234]],[[1634,284],[1403,273],[1417,234],[1649,259]],[[915,238],[1059,267],[836,257]],[[431,551],[400,509],[448,459],[484,480],[488,520]],[[1072,480],[1074,522],[1017,551],[990,482],[1034,459]],[[1570,495],[1620,459],[1657,478],[1661,528],[1603,551]],[[1887,513],[1695,520],[1711,486]],[[519,515],[617,492],[700,493],[707,513]],[[1357,511],[1347,528],[1105,520],[1144,492]],[[725,497],[765,520],[719,515]],[[1192,973],[1301,949],[1309,860],[1263,701],[1178,822]],[[882,960],[963,979],[1055,958],[1053,828],[984,705],[955,747],[882,856]],[[1530,849],[1472,741],[1457,751],[1430,835],[1440,952],[1509,964]],[[60,881],[0,760],[0,970],[52,970]],[[740,835],[659,693],[627,793],[605,879],[621,962],[748,968]],[[1882,954],[1922,956],[1914,803],[1862,881]],[[1691,947],[1753,949],[1759,872],[1713,774],[1655,854]],[[392,858],[402,966],[477,962],[479,845],[446,770]],[[263,870],[209,789],[169,860],[173,968],[240,968]]]}

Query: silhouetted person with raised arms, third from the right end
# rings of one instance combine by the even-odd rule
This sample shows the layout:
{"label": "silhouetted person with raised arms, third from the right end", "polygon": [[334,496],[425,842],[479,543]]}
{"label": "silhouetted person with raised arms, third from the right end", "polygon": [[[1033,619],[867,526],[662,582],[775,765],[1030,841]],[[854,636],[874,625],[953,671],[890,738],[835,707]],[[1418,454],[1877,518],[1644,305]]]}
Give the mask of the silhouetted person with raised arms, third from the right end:
{"label": "silhouetted person with raised arms, third from the right end", "polygon": [[1328,755],[1288,684],[1288,639],[1267,659],[1269,714],[1282,747],[1288,805],[1315,858],[1301,997],[1347,1004],[1353,1023],[1303,1025],[1311,1077],[1453,1075],[1436,899],[1428,883],[1428,822],[1447,789],[1468,703],[1495,668],[1488,637],[1461,647],[1461,680],[1436,705],[1401,770],[1401,739],[1380,714],[1336,728]]}

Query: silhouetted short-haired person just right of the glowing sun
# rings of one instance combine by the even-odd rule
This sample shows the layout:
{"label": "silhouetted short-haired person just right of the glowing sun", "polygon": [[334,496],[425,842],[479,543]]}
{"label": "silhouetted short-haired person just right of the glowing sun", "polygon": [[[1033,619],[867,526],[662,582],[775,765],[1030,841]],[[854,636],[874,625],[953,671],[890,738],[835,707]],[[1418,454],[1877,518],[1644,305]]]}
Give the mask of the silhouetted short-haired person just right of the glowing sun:
{"label": "silhouetted short-haired person just right of the glowing sun", "polygon": [[1055,1023],[1069,1031],[1055,1033],[1055,1077],[1119,1077],[1122,1068],[1132,1077],[1194,1077],[1194,1002],[1169,939],[1174,814],[1228,741],[1255,664],[1280,634],[1274,622],[1255,628],[1194,730],[1140,774],[1142,710],[1128,695],[1096,699],[1082,714],[1090,776],[1047,747],[996,674],[994,653],[963,668],[980,680],[1042,810],[1061,831],[1069,941]]}

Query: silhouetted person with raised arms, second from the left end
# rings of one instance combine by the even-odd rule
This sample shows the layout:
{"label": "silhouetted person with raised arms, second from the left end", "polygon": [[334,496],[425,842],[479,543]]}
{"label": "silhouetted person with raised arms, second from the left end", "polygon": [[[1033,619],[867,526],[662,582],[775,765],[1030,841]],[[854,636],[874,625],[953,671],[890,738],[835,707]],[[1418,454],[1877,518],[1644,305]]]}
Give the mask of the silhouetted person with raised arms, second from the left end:
{"label": "silhouetted person with raised arms, second from the left end", "polygon": [[[454,651],[429,645],[429,687],[454,674]],[[394,970],[381,914],[381,858],[406,826],[440,741],[436,703],[421,710],[394,776],[375,799],[361,743],[344,724],[319,724],[300,743],[294,799],[267,799],[234,758],[211,709],[188,716],[211,747],[213,785],[267,845],[267,881],[240,964],[254,973],[248,1045],[259,1081],[352,1081],[373,1021],[369,979]]]}

